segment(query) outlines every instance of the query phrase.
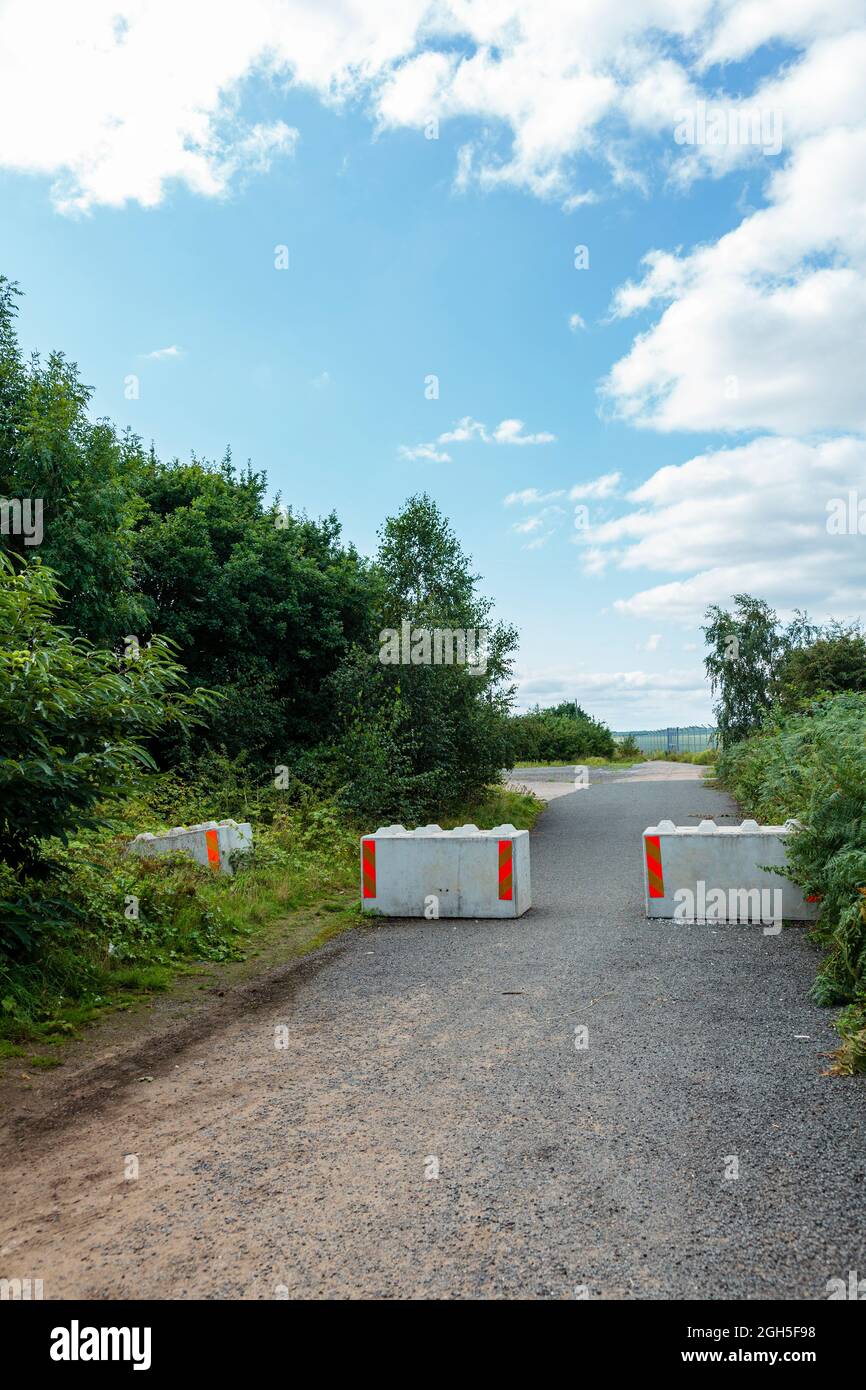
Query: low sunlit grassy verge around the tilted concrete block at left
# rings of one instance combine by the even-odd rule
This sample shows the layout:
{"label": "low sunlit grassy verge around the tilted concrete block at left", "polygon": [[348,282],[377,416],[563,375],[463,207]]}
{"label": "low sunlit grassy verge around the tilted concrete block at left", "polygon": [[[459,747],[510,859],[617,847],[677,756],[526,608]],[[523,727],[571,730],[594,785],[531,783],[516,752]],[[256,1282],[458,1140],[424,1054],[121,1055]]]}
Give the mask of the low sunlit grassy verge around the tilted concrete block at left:
{"label": "low sunlit grassy verge around the tilted concrete block at left", "polygon": [[[215,808],[213,819],[231,809]],[[532,795],[491,787],[441,824],[530,828],[542,810]],[[125,815],[129,828],[140,828],[142,820],[158,828],[138,803]],[[131,858],[128,840],[128,831],[100,833],[65,848],[51,845],[58,881],[83,922],[44,931],[33,960],[0,959],[0,1061],[24,1055],[21,1042],[60,1045],[106,1012],[147,1002],[203,965],[260,955],[277,965],[361,920],[359,831],[328,803],[254,823],[254,853],[235,876],[182,855]],[[129,895],[139,899],[135,920],[124,915]],[[29,1065],[50,1066],[53,1059]]]}

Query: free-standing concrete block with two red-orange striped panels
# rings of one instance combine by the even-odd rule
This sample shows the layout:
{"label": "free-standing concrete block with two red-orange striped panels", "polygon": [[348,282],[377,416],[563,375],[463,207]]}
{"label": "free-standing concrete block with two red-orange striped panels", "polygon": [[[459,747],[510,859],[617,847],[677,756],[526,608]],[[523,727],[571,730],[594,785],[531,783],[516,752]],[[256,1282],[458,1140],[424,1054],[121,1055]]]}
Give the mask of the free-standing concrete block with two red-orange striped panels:
{"label": "free-standing concrete block with two red-orange striped panels", "polygon": [[521,917],[532,906],[530,831],[382,826],[363,835],[361,906],[385,917]]}

